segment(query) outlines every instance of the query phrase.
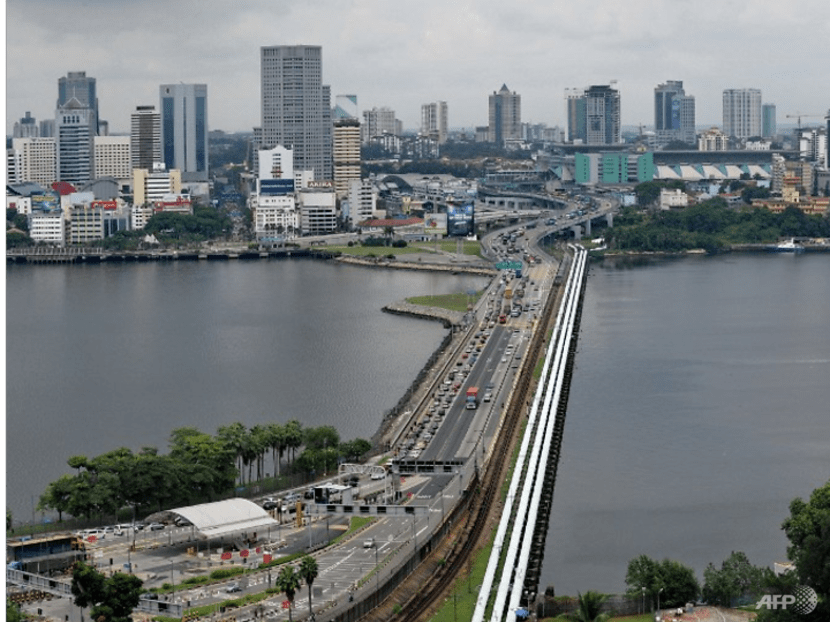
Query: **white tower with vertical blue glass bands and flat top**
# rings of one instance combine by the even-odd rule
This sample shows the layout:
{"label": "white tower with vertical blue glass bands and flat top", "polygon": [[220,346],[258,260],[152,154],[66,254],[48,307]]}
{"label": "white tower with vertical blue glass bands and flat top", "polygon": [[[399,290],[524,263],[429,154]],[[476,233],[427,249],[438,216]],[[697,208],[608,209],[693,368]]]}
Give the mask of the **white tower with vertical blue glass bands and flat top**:
{"label": "white tower with vertical blue glass bands and flat top", "polygon": [[182,181],[208,179],[206,84],[162,84],[161,161],[181,171]]}

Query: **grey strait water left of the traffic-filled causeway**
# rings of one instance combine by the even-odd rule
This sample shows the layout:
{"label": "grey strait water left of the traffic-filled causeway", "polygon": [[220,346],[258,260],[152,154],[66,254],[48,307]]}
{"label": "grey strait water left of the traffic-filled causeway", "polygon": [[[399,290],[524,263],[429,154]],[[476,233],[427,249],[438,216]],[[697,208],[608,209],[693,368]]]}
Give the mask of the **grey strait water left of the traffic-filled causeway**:
{"label": "grey strait water left of the traffic-filled causeway", "polygon": [[381,308],[486,283],[313,260],[8,266],[7,503],[28,522],[70,456],[166,453],[177,427],[368,439],[445,334]]}

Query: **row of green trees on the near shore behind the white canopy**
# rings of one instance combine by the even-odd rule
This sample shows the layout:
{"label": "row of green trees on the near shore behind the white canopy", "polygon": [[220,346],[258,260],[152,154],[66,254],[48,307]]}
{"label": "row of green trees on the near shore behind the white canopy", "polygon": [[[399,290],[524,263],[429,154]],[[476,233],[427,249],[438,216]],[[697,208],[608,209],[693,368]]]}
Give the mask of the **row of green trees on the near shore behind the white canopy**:
{"label": "row of green trees on the near shore behind the white canopy", "polygon": [[372,447],[359,438],[341,441],[332,426],[304,429],[296,420],[250,429],[237,422],[213,436],[176,428],[169,446],[166,455],[155,447],[121,447],[94,458],[72,456],[67,464],[74,475],[51,482],[37,508],[57,512],[59,522],[64,514],[91,520],[125,508],[157,512],[215,501],[237,485],[279,477],[283,466],[290,473],[336,471],[341,461],[357,461]]}

